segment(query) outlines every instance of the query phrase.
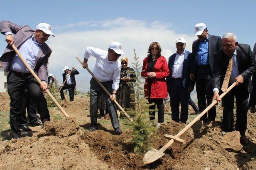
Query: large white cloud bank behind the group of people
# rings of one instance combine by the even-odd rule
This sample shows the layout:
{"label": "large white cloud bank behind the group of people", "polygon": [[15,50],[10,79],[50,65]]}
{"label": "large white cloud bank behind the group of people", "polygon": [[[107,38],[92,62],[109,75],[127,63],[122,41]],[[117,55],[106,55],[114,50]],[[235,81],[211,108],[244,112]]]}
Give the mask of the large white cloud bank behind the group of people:
{"label": "large white cloud bank behind the group of people", "polygon": [[[81,30],[83,27],[85,28],[84,31],[66,31],[69,28],[78,28]],[[90,28],[86,29],[86,27]],[[128,57],[129,63],[131,63],[134,48],[136,49],[139,60],[142,62],[147,56],[150,43],[157,41],[163,49],[162,55],[168,59],[176,51],[176,38],[184,37],[186,39],[186,49],[188,51],[191,51],[192,42],[196,39],[192,35],[177,34],[170,23],[159,21],[148,23],[142,20],[130,20],[127,18],[104,21],[81,21],[79,23],[59,25],[57,29],[62,31],[62,33],[57,33],[55,34],[56,37],[51,37],[48,40],[48,45],[53,50],[49,59],[49,71],[57,74],[56,76],[59,78],[59,82],[61,82],[62,68],[64,66],[75,66],[78,70],[81,70],[81,74],[76,76],[76,80],[79,82],[78,89],[84,89],[84,84],[81,84],[81,82],[85,78],[88,79],[90,74],[85,70],[82,71],[82,67],[75,59],[75,56],[83,59],[83,53],[87,46],[107,50],[108,45],[112,41],[118,41],[122,43],[122,50],[125,53],[122,56]],[[91,57],[88,64],[89,68],[93,70],[95,59]],[[87,79],[86,81],[88,81]],[[85,88],[85,90],[87,89],[88,87]]]}

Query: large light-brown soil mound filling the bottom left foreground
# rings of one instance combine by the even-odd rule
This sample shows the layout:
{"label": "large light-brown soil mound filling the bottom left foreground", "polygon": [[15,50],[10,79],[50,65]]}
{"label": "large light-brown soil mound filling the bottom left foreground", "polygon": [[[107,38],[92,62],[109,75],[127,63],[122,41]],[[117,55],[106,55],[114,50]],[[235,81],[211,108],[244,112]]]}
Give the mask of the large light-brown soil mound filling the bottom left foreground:
{"label": "large light-brown soil mound filling the bottom left foreground", "polygon": [[56,120],[45,123],[38,135],[1,144],[1,169],[108,169],[77,131],[74,120]]}

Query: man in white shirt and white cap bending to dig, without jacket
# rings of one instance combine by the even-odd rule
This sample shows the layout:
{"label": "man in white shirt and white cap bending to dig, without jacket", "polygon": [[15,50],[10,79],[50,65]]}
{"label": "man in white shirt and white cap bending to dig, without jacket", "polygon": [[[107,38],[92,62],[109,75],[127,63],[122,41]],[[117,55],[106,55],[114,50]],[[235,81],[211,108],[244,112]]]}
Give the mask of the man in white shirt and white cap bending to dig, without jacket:
{"label": "man in white shirt and white cap bending to dig, without jacket", "polygon": [[90,117],[91,117],[91,129],[90,131],[95,131],[98,129],[97,123],[97,98],[100,97],[100,93],[104,93],[106,99],[108,113],[110,115],[112,126],[117,135],[122,133],[120,129],[118,115],[116,111],[116,106],[112,101],[116,99],[116,91],[119,87],[121,62],[118,58],[124,54],[121,50],[122,45],[118,42],[112,42],[109,45],[108,51],[101,49],[96,49],[94,47],[87,47],[84,52],[84,62],[82,66],[86,68],[88,66],[87,61],[90,56],[96,58],[96,64],[94,68],[94,76],[103,84],[103,86],[108,90],[109,96],[104,92],[100,85],[94,80],[90,81]]}

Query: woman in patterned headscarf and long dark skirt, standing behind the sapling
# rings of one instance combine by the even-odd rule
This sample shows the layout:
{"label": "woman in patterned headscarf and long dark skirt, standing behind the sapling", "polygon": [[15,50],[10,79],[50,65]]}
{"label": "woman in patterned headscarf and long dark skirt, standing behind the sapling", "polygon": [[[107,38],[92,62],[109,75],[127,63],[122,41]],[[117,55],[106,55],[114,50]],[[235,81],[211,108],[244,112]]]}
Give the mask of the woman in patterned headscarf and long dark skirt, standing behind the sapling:
{"label": "woman in patterned headscarf and long dark skirt, standing behind the sapling", "polygon": [[121,78],[119,83],[119,89],[116,93],[116,101],[124,109],[135,110],[135,92],[133,83],[136,82],[136,75],[133,68],[128,66],[127,57],[121,59]]}

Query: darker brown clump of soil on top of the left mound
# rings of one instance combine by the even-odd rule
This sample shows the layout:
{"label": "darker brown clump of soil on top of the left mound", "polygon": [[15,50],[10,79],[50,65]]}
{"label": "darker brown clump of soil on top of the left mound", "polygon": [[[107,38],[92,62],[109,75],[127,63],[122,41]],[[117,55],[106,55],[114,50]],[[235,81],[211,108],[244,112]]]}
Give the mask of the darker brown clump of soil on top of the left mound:
{"label": "darker brown clump of soil on top of the left mound", "polygon": [[47,121],[44,128],[41,129],[37,137],[54,135],[59,138],[68,137],[76,134],[79,126],[74,118],[63,118],[61,120]]}

